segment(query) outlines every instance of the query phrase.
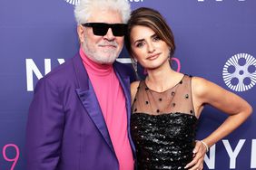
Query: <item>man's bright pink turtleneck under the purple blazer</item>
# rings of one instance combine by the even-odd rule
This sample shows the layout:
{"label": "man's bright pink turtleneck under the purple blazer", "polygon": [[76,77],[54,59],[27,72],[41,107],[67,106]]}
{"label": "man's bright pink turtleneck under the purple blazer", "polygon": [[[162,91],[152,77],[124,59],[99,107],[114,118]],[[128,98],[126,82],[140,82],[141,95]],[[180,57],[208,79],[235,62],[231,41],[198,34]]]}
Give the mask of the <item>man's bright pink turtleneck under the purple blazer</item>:
{"label": "man's bright pink turtleneck under the purple blazer", "polygon": [[122,86],[113,71],[113,65],[91,61],[82,48],[80,48],[80,55],[102,109],[119,162],[119,169],[133,170],[133,153],[127,132],[125,98]]}

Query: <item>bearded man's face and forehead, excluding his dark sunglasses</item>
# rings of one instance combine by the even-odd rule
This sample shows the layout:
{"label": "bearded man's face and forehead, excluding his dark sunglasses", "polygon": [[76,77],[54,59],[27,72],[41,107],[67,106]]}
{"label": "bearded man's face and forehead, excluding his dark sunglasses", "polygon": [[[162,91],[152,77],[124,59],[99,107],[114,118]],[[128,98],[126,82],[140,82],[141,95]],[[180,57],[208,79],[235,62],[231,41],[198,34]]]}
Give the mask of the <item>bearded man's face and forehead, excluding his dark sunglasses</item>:
{"label": "bearded man's face and forehead, excluding his dark sunglasses", "polygon": [[[87,23],[122,24],[122,16],[113,10],[94,10]],[[112,64],[123,48],[123,36],[114,36],[109,28],[103,36],[94,35],[92,27],[78,26],[78,35],[84,53],[92,60],[102,64]]]}

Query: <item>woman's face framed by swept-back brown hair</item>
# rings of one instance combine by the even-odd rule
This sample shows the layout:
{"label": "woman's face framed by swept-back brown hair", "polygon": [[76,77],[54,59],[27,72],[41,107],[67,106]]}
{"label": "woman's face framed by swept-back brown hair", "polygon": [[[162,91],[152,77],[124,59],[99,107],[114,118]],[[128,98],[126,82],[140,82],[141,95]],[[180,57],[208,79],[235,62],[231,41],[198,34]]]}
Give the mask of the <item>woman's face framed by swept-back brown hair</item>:
{"label": "woman's face framed by swept-back brown hair", "polygon": [[145,69],[157,69],[165,62],[169,63],[170,50],[167,43],[163,42],[151,28],[135,25],[130,38],[133,57]]}

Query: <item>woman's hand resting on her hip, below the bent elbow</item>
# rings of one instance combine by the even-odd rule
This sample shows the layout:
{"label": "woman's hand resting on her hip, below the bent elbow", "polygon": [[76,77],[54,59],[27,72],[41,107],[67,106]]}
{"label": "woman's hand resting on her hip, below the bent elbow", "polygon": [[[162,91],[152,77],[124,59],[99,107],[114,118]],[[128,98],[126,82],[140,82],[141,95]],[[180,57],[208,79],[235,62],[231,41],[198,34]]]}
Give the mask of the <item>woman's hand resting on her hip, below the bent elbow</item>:
{"label": "woman's hand resting on her hip, below the bent elbow", "polygon": [[187,164],[185,168],[189,170],[202,170],[203,158],[206,154],[206,147],[202,144],[201,141],[197,140],[192,152],[193,152],[192,162]]}

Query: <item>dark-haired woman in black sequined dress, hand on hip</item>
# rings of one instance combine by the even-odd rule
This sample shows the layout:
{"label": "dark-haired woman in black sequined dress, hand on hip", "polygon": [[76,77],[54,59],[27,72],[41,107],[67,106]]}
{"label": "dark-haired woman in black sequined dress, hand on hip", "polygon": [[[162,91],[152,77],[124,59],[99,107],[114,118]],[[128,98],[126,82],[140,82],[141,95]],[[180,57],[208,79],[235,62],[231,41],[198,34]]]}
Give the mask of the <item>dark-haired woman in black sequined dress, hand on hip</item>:
{"label": "dark-haired woman in black sequined dress, hand on hip", "polygon": [[138,169],[191,167],[188,163],[193,156],[195,127],[205,104],[229,115],[219,128],[201,140],[205,150],[251,115],[251,106],[239,96],[211,81],[172,70],[172,31],[157,11],[133,11],[125,44],[133,60],[148,73],[145,80],[131,85],[131,131]]}

